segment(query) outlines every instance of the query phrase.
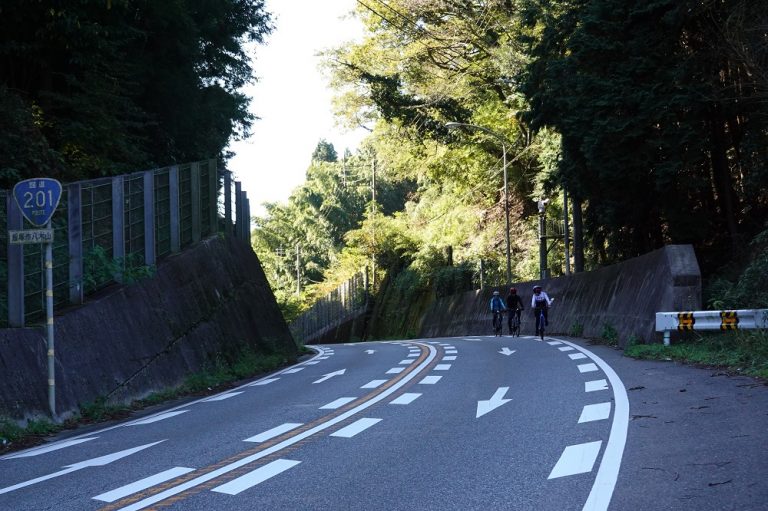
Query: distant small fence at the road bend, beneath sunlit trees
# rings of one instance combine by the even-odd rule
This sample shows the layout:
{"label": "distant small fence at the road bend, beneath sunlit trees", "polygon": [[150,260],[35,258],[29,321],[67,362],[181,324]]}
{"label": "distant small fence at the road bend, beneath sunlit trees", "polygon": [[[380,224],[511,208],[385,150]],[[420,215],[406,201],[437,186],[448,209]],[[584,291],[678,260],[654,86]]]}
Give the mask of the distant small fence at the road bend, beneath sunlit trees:
{"label": "distant small fence at the road bend, beneath sunlit trees", "polygon": [[289,325],[297,342],[307,343],[365,311],[368,279],[361,272],[315,302]]}

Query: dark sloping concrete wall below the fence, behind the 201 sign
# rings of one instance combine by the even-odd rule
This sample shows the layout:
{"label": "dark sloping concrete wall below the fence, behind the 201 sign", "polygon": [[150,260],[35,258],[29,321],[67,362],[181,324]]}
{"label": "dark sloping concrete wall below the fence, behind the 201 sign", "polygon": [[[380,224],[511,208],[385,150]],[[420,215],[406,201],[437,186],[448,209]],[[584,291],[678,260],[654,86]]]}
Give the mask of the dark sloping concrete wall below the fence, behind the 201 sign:
{"label": "dark sloping concrete wall below the fence, behind the 201 sign", "polygon": [[[108,396],[129,402],[194,372],[257,353],[297,356],[252,249],[212,237],[162,262],[157,275],[116,288],[55,319],[57,411]],[[45,331],[0,330],[0,415],[48,413]]]}

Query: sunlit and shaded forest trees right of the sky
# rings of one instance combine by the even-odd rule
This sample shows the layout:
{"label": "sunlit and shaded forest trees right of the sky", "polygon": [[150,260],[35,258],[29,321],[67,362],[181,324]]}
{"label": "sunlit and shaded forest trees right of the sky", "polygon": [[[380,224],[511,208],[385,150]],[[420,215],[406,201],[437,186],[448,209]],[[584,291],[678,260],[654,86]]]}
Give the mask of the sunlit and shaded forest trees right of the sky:
{"label": "sunlit and shaded forest trees right of the sky", "polygon": [[[258,220],[260,254],[306,247],[303,267],[280,260],[286,297],[296,278],[319,292],[364,264],[435,289],[467,280],[451,266],[476,283],[482,260],[503,284],[504,150],[513,282],[538,277],[537,201],[556,233],[564,192],[579,271],[690,243],[727,299],[738,274],[722,268],[764,254],[751,240],[768,227],[768,4],[360,0],[356,15],[365,38],[325,63],[340,121],[371,130],[348,155],[365,162],[357,188],[340,187],[346,163],[315,161]],[[377,187],[405,192],[389,207],[372,200],[373,162]],[[557,276],[563,244],[548,244]]]}

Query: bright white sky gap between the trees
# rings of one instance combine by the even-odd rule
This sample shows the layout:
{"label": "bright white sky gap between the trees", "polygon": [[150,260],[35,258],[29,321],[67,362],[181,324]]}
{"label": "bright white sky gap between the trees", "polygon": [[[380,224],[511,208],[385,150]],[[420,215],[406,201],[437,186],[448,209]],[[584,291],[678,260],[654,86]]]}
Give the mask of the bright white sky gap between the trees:
{"label": "bright white sky gap between the trees", "polygon": [[362,26],[348,16],[355,0],[267,0],[275,30],[255,48],[253,64],[259,82],[245,90],[251,112],[260,117],[251,137],[230,146],[235,179],[248,192],[251,215],[263,215],[264,202],[285,202],[304,182],[320,139],[341,156],[354,152],[365,130],[336,126],[331,114],[332,91],[320,72],[324,49],[360,39]]}

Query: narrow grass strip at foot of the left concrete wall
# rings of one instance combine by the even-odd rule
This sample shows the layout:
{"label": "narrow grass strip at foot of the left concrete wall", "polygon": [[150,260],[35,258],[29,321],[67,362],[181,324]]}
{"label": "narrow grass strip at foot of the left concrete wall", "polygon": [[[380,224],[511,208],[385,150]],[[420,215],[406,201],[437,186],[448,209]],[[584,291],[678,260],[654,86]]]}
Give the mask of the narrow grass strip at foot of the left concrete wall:
{"label": "narrow grass strip at foot of the left concrete wall", "polygon": [[123,419],[128,417],[132,411],[141,410],[148,406],[165,403],[187,395],[221,390],[232,386],[238,380],[278,369],[289,362],[288,358],[282,354],[261,355],[247,349],[231,362],[225,362],[222,358],[218,358],[211,367],[190,375],[179,387],[154,392],[130,405],[111,404],[106,397],[101,397],[93,402],[81,404],[75,417],[58,424],[48,419],[40,419],[30,420],[25,426],[21,426],[15,420],[0,417],[0,453],[38,445],[45,436],[65,429],[107,420]]}

